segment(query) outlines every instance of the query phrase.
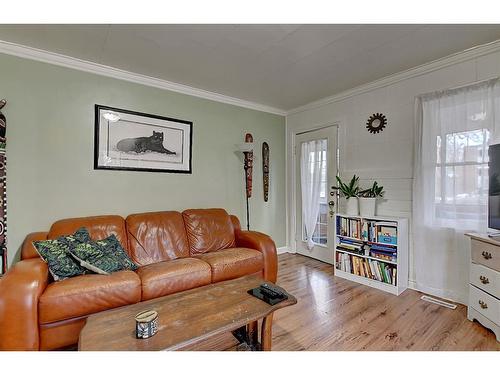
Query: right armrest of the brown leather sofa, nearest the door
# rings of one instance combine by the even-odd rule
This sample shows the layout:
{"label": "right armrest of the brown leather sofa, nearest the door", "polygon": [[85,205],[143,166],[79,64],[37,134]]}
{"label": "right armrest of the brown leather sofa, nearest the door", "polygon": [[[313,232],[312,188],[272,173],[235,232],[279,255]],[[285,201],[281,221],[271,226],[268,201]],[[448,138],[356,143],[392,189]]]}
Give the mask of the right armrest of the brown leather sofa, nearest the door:
{"label": "right armrest of the brown leather sofa, nearest the door", "polygon": [[264,257],[264,279],[275,283],[278,274],[276,245],[267,234],[253,231],[235,231],[236,246],[258,250]]}

